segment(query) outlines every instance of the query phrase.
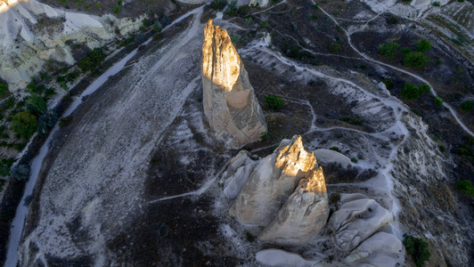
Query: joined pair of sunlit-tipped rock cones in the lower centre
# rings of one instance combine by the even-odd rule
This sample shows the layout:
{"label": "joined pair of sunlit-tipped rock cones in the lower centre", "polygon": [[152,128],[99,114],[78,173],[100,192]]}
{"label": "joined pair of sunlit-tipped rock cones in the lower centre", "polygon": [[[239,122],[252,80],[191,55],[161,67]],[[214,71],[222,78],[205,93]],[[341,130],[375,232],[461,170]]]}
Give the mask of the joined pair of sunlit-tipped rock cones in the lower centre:
{"label": "joined pair of sunlit-tipped rock cones in the lower centre", "polygon": [[328,213],[323,170],[296,135],[257,161],[231,208],[240,223],[268,225],[261,241],[291,245],[306,243]]}

